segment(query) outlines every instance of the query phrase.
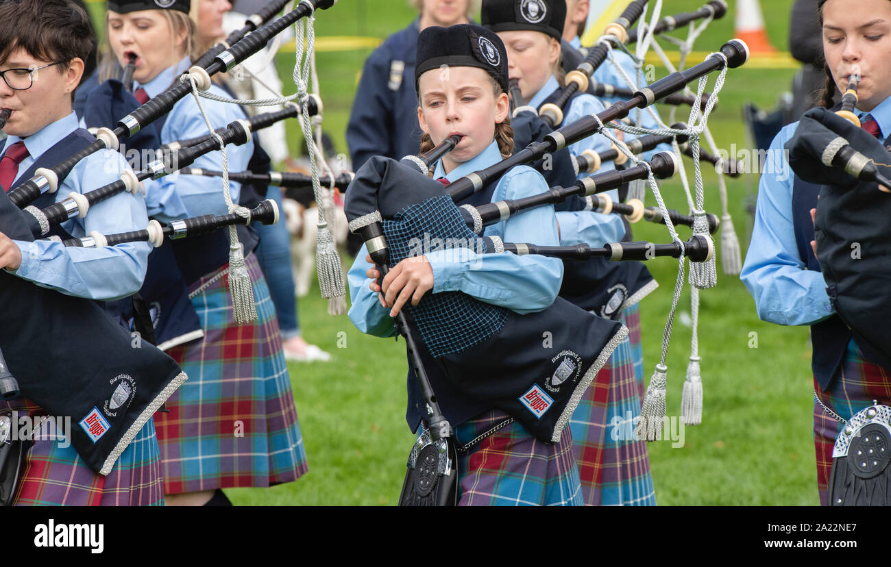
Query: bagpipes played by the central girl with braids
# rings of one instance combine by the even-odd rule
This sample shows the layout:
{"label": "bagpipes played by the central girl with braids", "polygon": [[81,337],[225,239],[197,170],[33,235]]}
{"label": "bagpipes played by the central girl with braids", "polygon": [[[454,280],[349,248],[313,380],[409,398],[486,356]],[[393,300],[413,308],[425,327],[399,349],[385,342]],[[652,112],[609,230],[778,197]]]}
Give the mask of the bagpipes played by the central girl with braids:
{"label": "bagpipes played by the central girl with braids", "polygon": [[[350,231],[362,237],[372,261],[380,266],[383,275],[390,265],[413,254],[412,241],[425,237],[453,239],[461,242],[459,247],[478,253],[501,253],[515,243],[504,243],[496,237],[481,238],[469,228],[476,223],[473,214],[456,203],[495,182],[512,166],[561,150],[595,134],[601,124],[627,116],[631,109],[652,104],[725,65],[738,67],[747,59],[745,44],[739,40],[728,42],[722,46],[720,55],[713,54],[691,69],[660,79],[635,93],[631,100],[616,102],[596,117],[583,117],[553,131],[544,141],[532,142],[510,158],[468,174],[447,187],[426,175],[429,162],[421,160],[419,164],[417,160],[404,159],[400,163],[372,158],[356,172],[347,190],[344,211]],[[645,175],[648,176],[649,171]],[[585,190],[582,183],[582,189],[571,190]],[[509,205],[493,205],[499,217],[510,214]],[[486,215],[494,216],[495,209]],[[482,215],[479,216],[481,224]],[[625,243],[622,254],[617,253],[617,248],[593,252],[579,247],[570,247],[568,254],[646,259],[652,257],[646,250],[653,255],[676,256],[683,248],[687,254],[707,256],[711,245],[708,239],[701,240],[688,242],[687,246],[667,245],[672,250],[642,243],[640,254],[634,246],[628,246],[625,255]],[[530,245],[520,243],[516,249],[522,251],[523,246]],[[571,325],[567,321],[572,321]],[[460,292],[428,294],[416,306],[406,304],[396,318],[396,328],[406,336],[410,369],[414,369],[421,382],[421,393],[430,409],[430,442],[425,445],[429,455],[421,459],[425,463],[421,473],[427,487],[437,479],[447,480],[450,474],[448,469],[436,467],[437,463],[446,461],[445,458],[437,460],[437,455],[449,453],[449,401],[469,399],[481,404],[483,409],[503,409],[540,441],[557,442],[584,390],[627,335],[627,329],[617,321],[585,312],[560,297],[542,312],[520,315]],[[543,330],[553,333],[554,348],[548,352],[541,350]],[[493,352],[512,354],[506,358],[493,357]],[[556,352],[560,354],[555,356]],[[531,406],[527,405],[530,403]],[[413,457],[418,456],[418,449],[413,451]],[[410,468],[417,462],[416,459],[410,461]],[[431,464],[432,473],[429,472]],[[414,489],[406,485],[402,501],[416,501],[417,490],[427,489],[417,483]],[[427,496],[429,494],[427,492]]]}

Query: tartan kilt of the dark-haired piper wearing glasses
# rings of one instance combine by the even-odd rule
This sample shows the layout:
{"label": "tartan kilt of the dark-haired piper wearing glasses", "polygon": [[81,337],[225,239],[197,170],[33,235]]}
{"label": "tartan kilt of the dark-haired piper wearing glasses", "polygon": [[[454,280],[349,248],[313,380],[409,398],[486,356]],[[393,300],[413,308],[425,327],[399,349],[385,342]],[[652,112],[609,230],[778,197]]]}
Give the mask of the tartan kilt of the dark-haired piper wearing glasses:
{"label": "tartan kilt of the dark-haired piper wearing glasses", "polygon": [[[0,401],[0,410],[43,417],[44,409],[19,398]],[[75,422],[71,427],[77,427]],[[59,425],[61,429],[61,425]],[[14,506],[163,506],[158,440],[149,419],[121,453],[107,476],[86,466],[74,446],[56,441],[53,431],[34,435],[20,468]],[[62,445],[67,444],[67,447]]]}

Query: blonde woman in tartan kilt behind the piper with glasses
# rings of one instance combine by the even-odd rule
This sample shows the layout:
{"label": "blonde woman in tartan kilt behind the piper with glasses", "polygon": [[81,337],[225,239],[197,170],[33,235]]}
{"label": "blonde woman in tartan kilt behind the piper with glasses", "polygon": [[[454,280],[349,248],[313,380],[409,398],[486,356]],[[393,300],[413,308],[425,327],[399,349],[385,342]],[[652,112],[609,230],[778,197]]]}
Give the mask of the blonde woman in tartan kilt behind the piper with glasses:
{"label": "blonde woman in tartan kilt behind the piper with glasses", "polygon": [[[161,8],[152,0],[109,2],[111,51],[121,64],[128,55],[136,55],[134,94],[139,101],[157,96],[192,64],[195,30],[188,17],[190,3],[176,0],[165,5]],[[212,85],[210,92],[225,96],[217,85]],[[244,118],[234,104],[202,102],[215,128]],[[156,127],[161,143],[208,134],[191,95],[178,101]],[[232,171],[248,168],[253,142],[226,150]],[[221,154],[216,151],[194,165],[219,169],[220,162]],[[228,213],[218,179],[172,174],[145,182],[145,189],[149,215],[161,222]],[[231,183],[231,195],[238,203],[238,183]],[[226,231],[178,240],[173,247],[174,268],[178,266],[188,287],[203,338],[168,351],[189,375],[186,385],[168,401],[169,413],[155,416],[165,493],[171,495],[168,504],[226,505],[228,500],[220,489],[290,482],[307,470],[266,280],[256,257],[246,249],[258,319],[247,324],[234,322],[229,247]]]}

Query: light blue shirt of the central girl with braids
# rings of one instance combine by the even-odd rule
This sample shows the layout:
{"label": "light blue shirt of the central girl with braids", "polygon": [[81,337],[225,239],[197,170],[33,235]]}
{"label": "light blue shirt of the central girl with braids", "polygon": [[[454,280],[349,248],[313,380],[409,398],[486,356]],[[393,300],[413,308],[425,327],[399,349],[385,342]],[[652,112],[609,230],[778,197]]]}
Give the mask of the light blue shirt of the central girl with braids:
{"label": "light blue shirt of the central girl with braids", "polygon": [[[445,174],[437,163],[435,177],[450,182],[466,174],[501,161],[498,146],[492,142],[476,158]],[[492,200],[523,198],[546,191],[544,178],[531,167],[517,166],[499,180]],[[527,242],[557,246],[557,224],[553,207],[536,207],[506,221],[491,224],[483,236],[498,236],[504,242]],[[389,309],[380,306],[378,294],[372,293],[372,279],[365,272],[372,264],[365,262],[365,247],[347,274],[352,306],[349,318],[359,330],[376,336],[392,336],[393,320]],[[433,268],[432,293],[462,291],[487,304],[506,307],[518,313],[539,312],[550,306],[560,291],[563,263],[542,255],[476,254],[467,249],[437,250],[425,254]]]}

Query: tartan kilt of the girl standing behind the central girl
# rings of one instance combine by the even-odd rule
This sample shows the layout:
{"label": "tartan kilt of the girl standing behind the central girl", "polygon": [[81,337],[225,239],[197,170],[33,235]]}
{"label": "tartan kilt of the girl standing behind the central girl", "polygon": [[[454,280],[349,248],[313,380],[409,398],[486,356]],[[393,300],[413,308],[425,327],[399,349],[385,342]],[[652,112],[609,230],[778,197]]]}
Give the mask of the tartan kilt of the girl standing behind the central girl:
{"label": "tartan kilt of the girl standing behind the central girl", "polygon": [[[642,387],[635,374],[634,333],[640,341],[640,312],[622,316],[625,338],[598,372],[569,420],[585,506],[653,506],[656,493],[645,441],[634,431],[641,415]],[[642,366],[642,364],[641,364]]]}

